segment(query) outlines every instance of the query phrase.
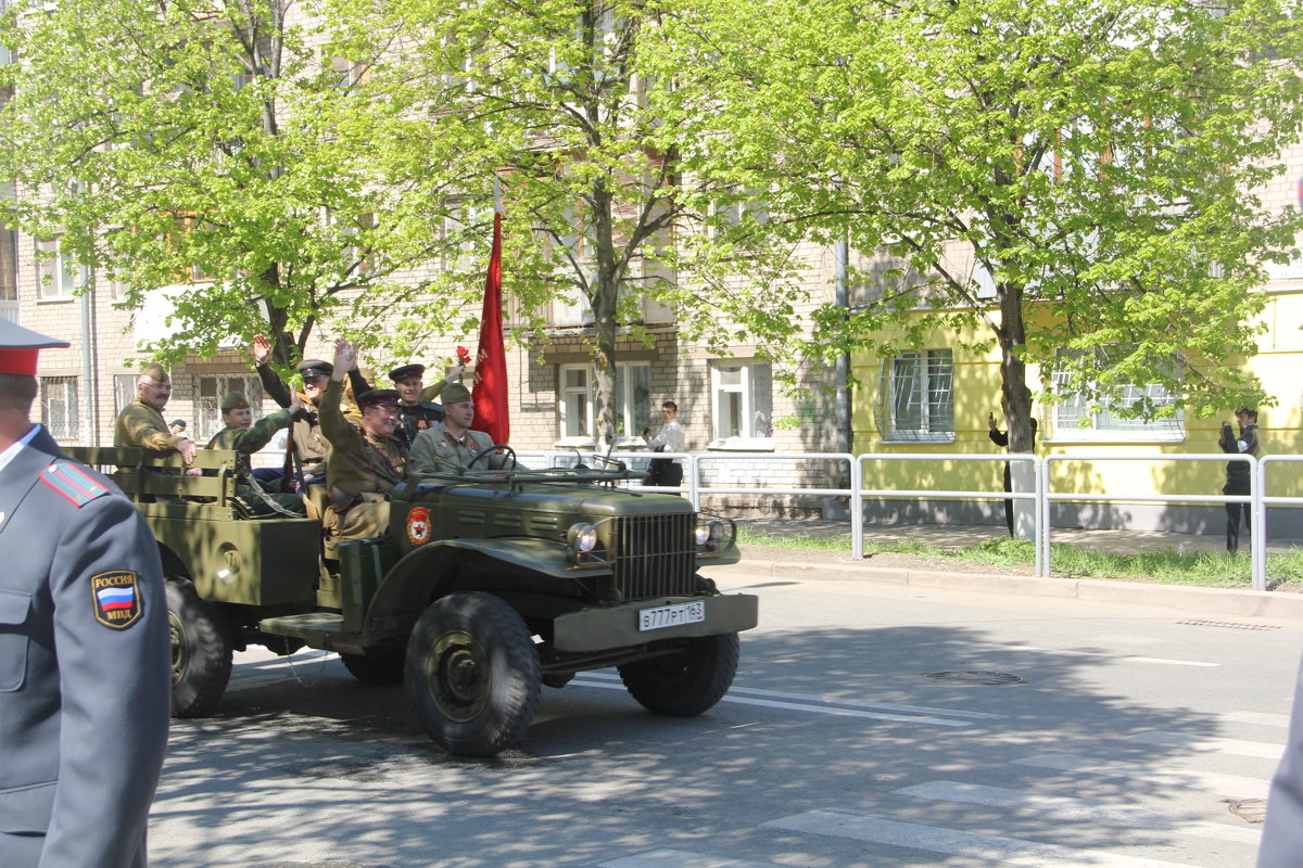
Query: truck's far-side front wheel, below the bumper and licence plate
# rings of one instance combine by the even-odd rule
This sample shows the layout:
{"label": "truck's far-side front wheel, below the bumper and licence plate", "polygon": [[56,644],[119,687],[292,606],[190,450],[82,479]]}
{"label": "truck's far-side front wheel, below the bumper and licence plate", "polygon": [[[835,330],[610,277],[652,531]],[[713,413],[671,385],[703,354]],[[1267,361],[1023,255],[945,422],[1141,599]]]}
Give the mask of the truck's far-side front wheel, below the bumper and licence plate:
{"label": "truck's far-side front wheel, below the bumper and licence plate", "polygon": [[619,666],[629,695],[653,714],[692,717],[713,707],[737,671],[737,634],[700,636],[678,649]]}

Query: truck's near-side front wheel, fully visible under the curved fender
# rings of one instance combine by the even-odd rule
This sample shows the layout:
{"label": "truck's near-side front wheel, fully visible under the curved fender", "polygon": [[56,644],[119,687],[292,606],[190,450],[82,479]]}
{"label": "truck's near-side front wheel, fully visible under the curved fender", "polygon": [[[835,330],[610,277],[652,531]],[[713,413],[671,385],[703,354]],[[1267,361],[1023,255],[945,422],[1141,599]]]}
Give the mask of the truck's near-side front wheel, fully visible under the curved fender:
{"label": "truck's near-side front wheel, fully visible under the curved fender", "polygon": [[493,756],[515,744],[534,720],[539,683],[529,627],[490,593],[438,600],[408,639],[408,696],[450,753]]}

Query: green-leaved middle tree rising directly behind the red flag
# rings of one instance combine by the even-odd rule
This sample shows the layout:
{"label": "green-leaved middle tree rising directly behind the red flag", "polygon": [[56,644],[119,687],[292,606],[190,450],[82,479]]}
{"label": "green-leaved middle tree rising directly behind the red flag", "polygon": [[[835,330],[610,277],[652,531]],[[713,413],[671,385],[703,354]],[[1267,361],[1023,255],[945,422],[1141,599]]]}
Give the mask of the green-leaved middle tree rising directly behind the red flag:
{"label": "green-leaved middle tree rising directly behind the red flag", "polygon": [[[773,292],[792,276],[790,250],[751,243],[753,193],[684,170],[709,95],[680,90],[671,100],[672,82],[641,66],[642,44],[676,5],[348,0],[332,13],[354,17],[352,51],[401,46],[373,68],[375,87],[413,111],[427,100],[421,113],[478,167],[478,190],[482,178],[500,183],[503,277],[520,308],[551,298],[586,306],[599,441],[616,433],[616,336],[649,340],[642,298],[674,305],[679,329],[717,347],[795,328],[794,293]],[[680,103],[702,111],[668,124]],[[468,204],[487,210],[482,198]]]}

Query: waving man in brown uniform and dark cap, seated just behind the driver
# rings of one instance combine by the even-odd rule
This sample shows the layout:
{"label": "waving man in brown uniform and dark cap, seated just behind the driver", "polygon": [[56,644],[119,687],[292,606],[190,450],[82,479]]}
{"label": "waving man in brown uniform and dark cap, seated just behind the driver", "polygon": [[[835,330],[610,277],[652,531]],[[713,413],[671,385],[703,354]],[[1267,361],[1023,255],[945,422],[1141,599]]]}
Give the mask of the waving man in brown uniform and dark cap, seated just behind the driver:
{"label": "waving man in brown uniform and dark cap, seated just behind the driver", "polygon": [[384,535],[390,526],[390,492],[403,481],[407,470],[407,444],[395,436],[397,392],[364,392],[357,396],[361,424],[344,418],[340,409],[344,376],[356,364],[353,345],[337,341],[334,372],[321,403],[322,431],[331,444],[326,467],[330,505],[323,519],[328,556],[334,556],[334,545],[339,543]]}

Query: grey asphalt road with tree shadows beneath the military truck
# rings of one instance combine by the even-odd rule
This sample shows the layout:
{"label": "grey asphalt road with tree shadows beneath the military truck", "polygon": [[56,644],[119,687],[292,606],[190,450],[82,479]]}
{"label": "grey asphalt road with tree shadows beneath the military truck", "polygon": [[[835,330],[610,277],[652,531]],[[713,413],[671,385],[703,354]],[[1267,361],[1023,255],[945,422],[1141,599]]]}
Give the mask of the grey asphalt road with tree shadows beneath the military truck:
{"label": "grey asphalt road with tree shadows beneath the military truck", "polygon": [[717,575],[761,595],[724,701],[581,674],[493,761],[330,656],[237,655],[223,714],[173,722],[151,864],[1252,864],[1303,623]]}

